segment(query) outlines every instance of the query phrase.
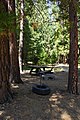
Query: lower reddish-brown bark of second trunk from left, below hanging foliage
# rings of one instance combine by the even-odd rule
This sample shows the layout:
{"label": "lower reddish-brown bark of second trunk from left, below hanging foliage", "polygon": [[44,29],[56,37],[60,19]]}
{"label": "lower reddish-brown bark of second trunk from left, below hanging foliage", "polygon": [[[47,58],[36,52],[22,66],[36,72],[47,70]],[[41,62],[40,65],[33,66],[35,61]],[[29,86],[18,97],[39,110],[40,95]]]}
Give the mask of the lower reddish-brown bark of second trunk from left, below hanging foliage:
{"label": "lower reddish-brown bark of second trunk from left, below hanging foliage", "polygon": [[10,45],[10,62],[11,62],[10,81],[14,83],[23,83],[20,76],[17,43],[15,40],[14,32],[9,33],[9,45]]}

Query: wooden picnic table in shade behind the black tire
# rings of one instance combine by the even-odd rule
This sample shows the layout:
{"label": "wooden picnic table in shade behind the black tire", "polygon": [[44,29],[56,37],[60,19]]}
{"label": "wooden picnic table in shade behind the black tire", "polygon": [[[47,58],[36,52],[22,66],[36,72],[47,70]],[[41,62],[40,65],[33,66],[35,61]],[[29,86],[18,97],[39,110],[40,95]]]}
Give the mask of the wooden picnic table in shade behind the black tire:
{"label": "wooden picnic table in shade behind the black tire", "polygon": [[46,65],[29,65],[30,67],[30,74],[32,74],[32,72],[35,72],[36,74],[39,73],[40,71],[46,71],[50,70],[52,71],[52,69],[54,68],[54,66],[46,66]]}

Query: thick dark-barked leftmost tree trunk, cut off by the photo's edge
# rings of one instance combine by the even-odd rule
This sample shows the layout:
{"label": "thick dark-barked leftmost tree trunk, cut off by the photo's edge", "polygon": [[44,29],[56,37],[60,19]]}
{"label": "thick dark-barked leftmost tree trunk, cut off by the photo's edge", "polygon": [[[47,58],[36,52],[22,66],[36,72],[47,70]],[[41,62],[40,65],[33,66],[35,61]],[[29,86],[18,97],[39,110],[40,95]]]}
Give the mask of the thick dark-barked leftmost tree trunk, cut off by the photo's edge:
{"label": "thick dark-barked leftmost tree trunk, cut off by the photo's edge", "polygon": [[[7,14],[8,6],[6,0],[0,0],[0,13]],[[9,55],[9,40],[8,33],[4,31],[0,32],[0,103],[10,100],[12,98],[9,76],[10,76],[10,55]]]}

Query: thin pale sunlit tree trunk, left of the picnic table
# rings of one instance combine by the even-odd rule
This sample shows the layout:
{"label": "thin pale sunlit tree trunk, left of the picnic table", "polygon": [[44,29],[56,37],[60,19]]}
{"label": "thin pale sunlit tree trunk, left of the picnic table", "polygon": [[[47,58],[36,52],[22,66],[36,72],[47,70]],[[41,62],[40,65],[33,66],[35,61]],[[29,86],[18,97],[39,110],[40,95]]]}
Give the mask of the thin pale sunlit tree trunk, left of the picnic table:
{"label": "thin pale sunlit tree trunk, left of the picnic table", "polygon": [[19,66],[23,71],[23,31],[24,31],[24,0],[20,0],[20,39],[19,39]]}

